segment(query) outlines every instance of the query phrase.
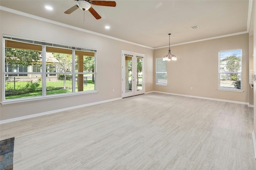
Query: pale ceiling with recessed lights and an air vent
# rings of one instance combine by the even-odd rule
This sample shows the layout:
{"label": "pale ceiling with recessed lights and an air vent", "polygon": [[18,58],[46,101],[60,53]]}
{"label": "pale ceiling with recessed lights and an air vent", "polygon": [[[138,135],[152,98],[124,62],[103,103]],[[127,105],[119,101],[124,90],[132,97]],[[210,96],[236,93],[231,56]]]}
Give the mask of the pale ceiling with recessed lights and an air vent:
{"label": "pale ceiling with recessed lights and an air vent", "polygon": [[[76,0],[0,0],[4,10],[11,8],[152,48],[168,46],[168,33],[172,33],[171,45],[246,33],[252,6],[249,0],[116,0],[116,7],[92,6],[102,17],[96,20],[80,9],[64,14],[75,4]],[[46,5],[53,10],[47,11]],[[200,29],[190,28],[195,25]]]}

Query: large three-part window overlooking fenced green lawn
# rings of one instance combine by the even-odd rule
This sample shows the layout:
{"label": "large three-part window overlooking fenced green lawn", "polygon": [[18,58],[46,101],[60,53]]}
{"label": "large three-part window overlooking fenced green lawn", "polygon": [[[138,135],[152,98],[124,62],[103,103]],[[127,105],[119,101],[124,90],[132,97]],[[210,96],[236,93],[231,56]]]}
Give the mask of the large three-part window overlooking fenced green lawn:
{"label": "large three-part window overlooking fenced green lawn", "polygon": [[4,100],[96,90],[95,50],[4,39]]}

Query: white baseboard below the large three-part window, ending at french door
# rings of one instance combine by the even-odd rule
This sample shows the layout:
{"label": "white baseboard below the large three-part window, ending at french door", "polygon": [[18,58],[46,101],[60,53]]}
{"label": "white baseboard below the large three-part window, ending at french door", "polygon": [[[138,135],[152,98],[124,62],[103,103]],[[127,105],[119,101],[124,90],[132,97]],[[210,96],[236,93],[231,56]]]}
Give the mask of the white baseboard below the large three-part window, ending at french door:
{"label": "white baseboard below the large three-part window, ending at french door", "polygon": [[100,102],[83,104],[83,105],[79,105],[79,106],[66,107],[66,108],[63,108],[63,109],[46,111],[46,112],[43,112],[43,113],[37,113],[37,114],[33,114],[33,115],[26,115],[26,116],[21,116],[21,117],[15,117],[15,118],[12,118],[12,119],[1,120],[0,124],[9,123],[9,122],[12,122],[12,121],[19,121],[19,120],[23,120],[23,119],[29,119],[29,118],[32,118],[32,117],[38,117],[38,116],[42,116],[42,115],[48,115],[48,114],[52,114],[52,113],[56,113],[56,112],[60,112],[60,111],[66,111],[66,110],[70,110],[70,109],[76,109],[76,108],[80,108],[80,107],[86,107],[86,106],[92,106],[92,105],[106,103],[106,102],[112,102],[114,100],[120,100],[120,99],[122,99],[122,98],[115,98],[115,99],[104,100],[104,101],[100,101]]}

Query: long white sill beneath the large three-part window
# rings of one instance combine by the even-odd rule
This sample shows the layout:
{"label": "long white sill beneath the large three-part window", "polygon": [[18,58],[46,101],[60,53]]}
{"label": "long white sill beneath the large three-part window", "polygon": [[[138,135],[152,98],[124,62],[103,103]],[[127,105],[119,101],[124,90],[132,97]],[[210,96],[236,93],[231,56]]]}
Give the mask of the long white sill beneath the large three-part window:
{"label": "long white sill beneath the large three-part window", "polygon": [[36,100],[45,100],[45,99],[52,99],[52,98],[61,98],[66,96],[76,96],[81,94],[90,94],[90,93],[97,93],[97,90],[88,91],[88,92],[76,92],[76,93],[70,93],[70,94],[59,94],[59,95],[50,95],[50,96],[44,96],[44,97],[34,97],[34,98],[19,98],[19,99],[10,99],[10,100],[4,100],[3,102],[0,102],[2,105],[5,104],[15,104],[15,103],[22,103],[22,102],[32,102]]}

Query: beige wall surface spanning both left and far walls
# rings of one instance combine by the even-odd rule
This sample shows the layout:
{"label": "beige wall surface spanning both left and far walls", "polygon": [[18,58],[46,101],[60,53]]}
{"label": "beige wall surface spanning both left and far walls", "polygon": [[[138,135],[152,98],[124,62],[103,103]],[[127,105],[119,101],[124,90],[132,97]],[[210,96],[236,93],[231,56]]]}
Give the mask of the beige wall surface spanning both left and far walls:
{"label": "beige wall surface spanning both left and far walls", "polygon": [[[176,55],[178,60],[168,62],[168,86],[156,86],[154,71],[155,58],[166,55],[168,53],[168,48],[152,50],[9,12],[0,12],[1,47],[2,34],[8,34],[29,39],[96,49],[98,90],[98,92],[94,94],[82,94],[33,102],[0,105],[0,120],[120,98],[122,96],[122,50],[146,55],[146,92],[154,90],[175,94],[249,102],[248,34],[171,47],[172,53]],[[217,90],[218,51],[230,49],[242,49],[243,93]],[[0,54],[0,65],[2,66],[2,53]],[[1,82],[3,80],[2,69],[0,69],[0,80]],[[193,87],[193,89],[191,90],[190,87]],[[0,83],[0,89],[2,89],[2,83]],[[112,89],[115,91],[112,92]],[[0,91],[0,98],[2,101],[2,91]]]}

